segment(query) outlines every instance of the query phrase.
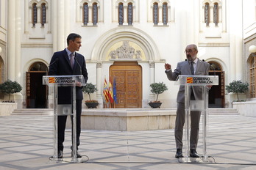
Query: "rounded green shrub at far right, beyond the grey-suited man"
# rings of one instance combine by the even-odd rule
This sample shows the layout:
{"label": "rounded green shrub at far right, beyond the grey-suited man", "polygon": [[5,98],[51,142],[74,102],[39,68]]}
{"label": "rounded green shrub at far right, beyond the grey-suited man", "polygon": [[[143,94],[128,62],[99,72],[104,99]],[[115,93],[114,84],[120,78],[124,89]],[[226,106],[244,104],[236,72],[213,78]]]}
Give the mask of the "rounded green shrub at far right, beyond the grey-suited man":
{"label": "rounded green shrub at far right, beyond the grey-suited man", "polygon": [[238,93],[245,93],[249,89],[249,84],[243,83],[242,81],[232,81],[230,85],[226,86],[228,93],[233,92],[238,97],[238,102],[241,102],[239,99]]}

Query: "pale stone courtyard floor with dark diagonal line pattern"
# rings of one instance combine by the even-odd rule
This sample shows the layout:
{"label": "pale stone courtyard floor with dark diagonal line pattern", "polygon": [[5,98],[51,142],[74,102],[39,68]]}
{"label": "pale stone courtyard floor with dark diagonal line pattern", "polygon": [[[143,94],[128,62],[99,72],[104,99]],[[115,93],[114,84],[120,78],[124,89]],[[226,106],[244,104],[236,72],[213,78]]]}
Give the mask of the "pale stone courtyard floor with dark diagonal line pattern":
{"label": "pale stone courtyard floor with dark diagonal line pattern", "polygon": [[[202,131],[202,130],[201,130]],[[197,151],[202,153],[200,131]],[[66,130],[64,158],[71,157],[71,130]],[[174,130],[82,130],[83,163],[51,160],[51,116],[0,117],[0,169],[256,169],[256,117],[210,115],[207,155],[213,163],[179,163]],[[65,160],[65,159],[64,159]]]}

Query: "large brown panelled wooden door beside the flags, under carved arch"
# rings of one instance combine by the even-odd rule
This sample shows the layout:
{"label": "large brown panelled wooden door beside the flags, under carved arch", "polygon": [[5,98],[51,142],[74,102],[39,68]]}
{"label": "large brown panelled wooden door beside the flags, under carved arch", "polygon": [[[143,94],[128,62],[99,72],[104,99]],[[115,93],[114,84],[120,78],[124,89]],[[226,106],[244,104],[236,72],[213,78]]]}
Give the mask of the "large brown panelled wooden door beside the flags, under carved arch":
{"label": "large brown panelled wooden door beside the flags, under carved arch", "polygon": [[138,62],[115,62],[110,67],[111,78],[115,78],[115,108],[141,108],[142,75]]}

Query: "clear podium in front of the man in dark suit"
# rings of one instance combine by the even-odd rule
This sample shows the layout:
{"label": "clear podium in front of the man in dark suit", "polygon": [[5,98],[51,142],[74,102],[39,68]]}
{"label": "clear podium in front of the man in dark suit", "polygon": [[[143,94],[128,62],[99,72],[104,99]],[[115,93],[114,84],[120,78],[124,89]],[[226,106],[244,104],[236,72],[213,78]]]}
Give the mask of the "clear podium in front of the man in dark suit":
{"label": "clear podium in front of the man in dark suit", "polygon": [[[57,156],[57,142],[58,142],[58,121],[57,117],[60,116],[73,116],[72,125],[72,142],[73,142],[73,158],[71,162],[79,163],[77,159],[77,108],[76,108],[76,84],[80,83],[85,86],[85,78],[83,75],[44,75],[43,85],[48,85],[53,89],[53,100],[54,100],[54,161],[61,161],[63,158]],[[71,103],[70,104],[59,104],[58,103],[58,87],[70,86],[71,87]],[[65,160],[69,161],[69,160]]]}

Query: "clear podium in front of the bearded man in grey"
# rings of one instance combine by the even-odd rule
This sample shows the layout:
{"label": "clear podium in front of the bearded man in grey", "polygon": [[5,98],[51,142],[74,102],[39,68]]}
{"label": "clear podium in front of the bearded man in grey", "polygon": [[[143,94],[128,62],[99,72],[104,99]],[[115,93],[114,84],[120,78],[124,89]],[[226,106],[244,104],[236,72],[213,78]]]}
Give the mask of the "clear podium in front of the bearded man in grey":
{"label": "clear podium in front of the bearded man in grey", "polygon": [[[185,130],[183,135],[185,138],[185,156],[179,158],[181,163],[207,163],[212,162],[207,155],[207,116],[208,116],[208,87],[218,85],[218,75],[179,75],[175,85],[185,86]],[[202,99],[191,100],[192,86],[200,86],[202,88]],[[190,114],[191,111],[202,111],[202,144],[203,155],[200,158],[190,158]]]}

